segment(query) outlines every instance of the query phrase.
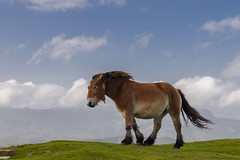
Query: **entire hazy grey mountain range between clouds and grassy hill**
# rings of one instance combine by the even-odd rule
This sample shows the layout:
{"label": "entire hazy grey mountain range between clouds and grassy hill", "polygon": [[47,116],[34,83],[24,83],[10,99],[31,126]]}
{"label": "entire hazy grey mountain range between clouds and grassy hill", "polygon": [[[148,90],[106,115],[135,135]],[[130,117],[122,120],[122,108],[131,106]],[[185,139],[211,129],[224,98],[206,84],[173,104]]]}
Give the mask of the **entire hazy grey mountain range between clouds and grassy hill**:
{"label": "entire hazy grey mountain range between clouds and grassy hill", "polygon": [[[209,130],[202,130],[190,122],[185,125],[182,121],[185,142],[240,137],[240,120],[217,118],[207,110],[200,112],[215,124],[209,125],[211,128]],[[147,138],[152,131],[152,120],[137,122]],[[112,110],[101,107],[52,110],[0,108],[0,147],[59,139],[120,143],[125,134],[124,128],[124,119],[115,108]],[[175,137],[172,121],[166,116],[156,143],[174,143]]]}

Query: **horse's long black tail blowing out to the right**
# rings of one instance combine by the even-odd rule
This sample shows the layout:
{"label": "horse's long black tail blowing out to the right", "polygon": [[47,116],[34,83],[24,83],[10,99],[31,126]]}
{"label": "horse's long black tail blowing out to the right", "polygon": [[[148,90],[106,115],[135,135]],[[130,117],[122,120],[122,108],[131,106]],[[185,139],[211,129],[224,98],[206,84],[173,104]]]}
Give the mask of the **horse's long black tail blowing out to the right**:
{"label": "horse's long black tail blowing out to the right", "polygon": [[187,118],[192,122],[192,124],[196,127],[199,128],[204,128],[204,129],[208,129],[208,127],[206,126],[205,123],[211,123],[212,122],[206,118],[204,118],[203,116],[201,116],[198,111],[191,107],[191,105],[188,103],[188,101],[186,100],[184,94],[182,93],[182,91],[180,89],[178,89],[178,93],[181,95],[182,98],[182,108],[181,108],[181,112],[183,115],[183,119],[187,122],[183,111],[185,112],[185,114],[187,115]]}

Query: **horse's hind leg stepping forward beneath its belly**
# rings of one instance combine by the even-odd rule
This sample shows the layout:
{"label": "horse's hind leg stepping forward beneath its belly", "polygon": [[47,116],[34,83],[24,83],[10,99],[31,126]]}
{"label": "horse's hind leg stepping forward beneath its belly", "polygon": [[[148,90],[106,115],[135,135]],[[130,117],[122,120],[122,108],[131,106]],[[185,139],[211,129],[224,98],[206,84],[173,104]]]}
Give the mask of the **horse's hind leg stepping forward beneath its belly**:
{"label": "horse's hind leg stepping forward beneath its belly", "polygon": [[162,125],[162,119],[166,114],[167,114],[167,111],[165,110],[160,117],[154,118],[153,131],[150,134],[150,136],[147,138],[147,140],[144,141],[145,146],[150,146],[154,144],[155,139],[157,138],[157,133],[160,130]]}

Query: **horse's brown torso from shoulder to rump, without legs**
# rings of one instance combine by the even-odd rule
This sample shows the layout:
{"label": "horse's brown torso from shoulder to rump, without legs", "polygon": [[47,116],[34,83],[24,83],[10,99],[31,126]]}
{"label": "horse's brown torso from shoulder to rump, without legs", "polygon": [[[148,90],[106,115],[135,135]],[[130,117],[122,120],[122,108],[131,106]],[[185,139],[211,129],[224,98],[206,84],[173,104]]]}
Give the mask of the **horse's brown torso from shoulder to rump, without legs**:
{"label": "horse's brown torso from shoulder to rump, without legs", "polygon": [[[166,82],[138,83],[128,81],[122,85],[121,96],[119,97],[122,97],[121,103],[123,106],[130,104],[128,107],[132,106],[131,110],[141,114],[143,112],[155,112],[159,115],[166,109],[171,111],[179,108],[180,103],[177,90]],[[124,102],[126,103],[124,104]],[[174,107],[176,108],[174,109]]]}

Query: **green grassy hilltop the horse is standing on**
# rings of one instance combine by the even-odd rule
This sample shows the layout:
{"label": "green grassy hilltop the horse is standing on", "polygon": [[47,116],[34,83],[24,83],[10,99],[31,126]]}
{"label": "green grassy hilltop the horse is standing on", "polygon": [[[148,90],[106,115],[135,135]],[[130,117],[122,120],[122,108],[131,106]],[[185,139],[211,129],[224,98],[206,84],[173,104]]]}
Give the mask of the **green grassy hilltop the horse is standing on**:
{"label": "green grassy hilltop the horse is standing on", "polygon": [[186,143],[180,150],[173,145],[137,146],[79,141],[51,141],[41,144],[8,147],[16,150],[11,159],[88,160],[88,159],[160,159],[209,160],[240,159],[240,139]]}

